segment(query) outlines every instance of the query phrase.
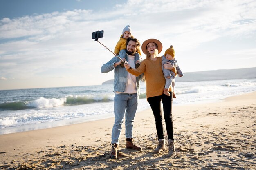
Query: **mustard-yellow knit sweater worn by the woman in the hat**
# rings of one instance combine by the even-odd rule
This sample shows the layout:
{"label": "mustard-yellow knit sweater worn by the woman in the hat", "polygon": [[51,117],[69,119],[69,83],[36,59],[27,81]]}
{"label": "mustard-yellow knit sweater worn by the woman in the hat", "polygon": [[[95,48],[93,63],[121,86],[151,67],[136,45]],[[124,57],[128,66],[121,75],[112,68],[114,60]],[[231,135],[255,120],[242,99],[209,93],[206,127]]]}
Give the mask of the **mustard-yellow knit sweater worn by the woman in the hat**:
{"label": "mustard-yellow knit sweater worn by the woman in the hat", "polygon": [[[141,62],[139,68],[132,68],[127,71],[135,76],[144,73],[147,98],[163,94],[165,79],[162,71],[162,57],[157,57],[156,61],[146,58]],[[169,91],[173,92],[172,86],[169,88]]]}

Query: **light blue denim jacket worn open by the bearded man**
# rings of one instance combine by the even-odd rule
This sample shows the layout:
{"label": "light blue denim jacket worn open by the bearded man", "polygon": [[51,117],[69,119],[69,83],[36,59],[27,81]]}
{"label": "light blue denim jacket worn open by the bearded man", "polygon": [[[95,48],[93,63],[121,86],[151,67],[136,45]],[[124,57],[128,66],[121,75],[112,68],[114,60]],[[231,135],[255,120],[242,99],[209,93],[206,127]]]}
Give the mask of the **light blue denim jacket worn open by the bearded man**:
{"label": "light blue denim jacket worn open by the bearded man", "polygon": [[[128,58],[128,57],[127,57]],[[121,67],[120,65],[114,67],[115,62],[119,62],[118,57],[113,57],[109,62],[106,64],[103,64],[101,66],[101,73],[108,73],[112,70],[114,70],[114,92],[124,92],[126,88],[126,82],[127,82],[127,74],[125,67]],[[138,53],[135,53],[134,62],[137,60],[141,61],[140,56]],[[139,80],[143,79],[144,74],[139,75],[136,77],[136,84],[137,84],[137,95],[140,94],[140,88],[139,88]]]}

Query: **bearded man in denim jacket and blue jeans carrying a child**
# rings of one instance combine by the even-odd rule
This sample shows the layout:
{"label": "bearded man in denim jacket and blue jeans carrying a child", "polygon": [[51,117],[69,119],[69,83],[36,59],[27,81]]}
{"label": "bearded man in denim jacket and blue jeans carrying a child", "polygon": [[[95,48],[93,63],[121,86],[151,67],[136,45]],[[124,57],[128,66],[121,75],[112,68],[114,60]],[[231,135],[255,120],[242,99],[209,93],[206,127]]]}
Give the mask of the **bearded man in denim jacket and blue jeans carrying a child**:
{"label": "bearded man in denim jacket and blue jeans carrying a child", "polygon": [[[140,43],[136,38],[128,38],[126,41],[126,59],[132,68],[135,68],[135,64],[141,62],[140,56],[137,52]],[[123,58],[123,60],[125,60]],[[102,73],[108,73],[114,70],[114,114],[115,123],[112,128],[112,149],[110,151],[110,157],[117,159],[117,149],[119,144],[119,138],[122,130],[122,124],[125,117],[125,135],[126,135],[126,148],[133,150],[141,150],[141,147],[136,146],[133,143],[132,128],[135,113],[138,106],[139,98],[139,79],[142,79],[143,75],[135,77],[126,71],[124,66],[121,66],[121,60],[118,57],[113,57],[109,62],[103,64],[101,67]]]}

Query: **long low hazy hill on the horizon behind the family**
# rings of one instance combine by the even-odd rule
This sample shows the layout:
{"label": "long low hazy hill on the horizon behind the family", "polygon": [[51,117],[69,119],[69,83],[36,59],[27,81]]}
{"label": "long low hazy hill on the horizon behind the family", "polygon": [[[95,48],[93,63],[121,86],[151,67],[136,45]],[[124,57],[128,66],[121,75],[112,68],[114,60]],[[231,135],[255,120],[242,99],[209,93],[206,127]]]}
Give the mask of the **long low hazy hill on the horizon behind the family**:
{"label": "long low hazy hill on the horizon behind the family", "polygon": [[[229,70],[211,70],[184,73],[183,77],[176,77],[176,82],[194,82],[207,80],[224,80],[224,79],[255,79],[256,67],[240,68]],[[114,80],[108,80],[102,84],[113,84]]]}

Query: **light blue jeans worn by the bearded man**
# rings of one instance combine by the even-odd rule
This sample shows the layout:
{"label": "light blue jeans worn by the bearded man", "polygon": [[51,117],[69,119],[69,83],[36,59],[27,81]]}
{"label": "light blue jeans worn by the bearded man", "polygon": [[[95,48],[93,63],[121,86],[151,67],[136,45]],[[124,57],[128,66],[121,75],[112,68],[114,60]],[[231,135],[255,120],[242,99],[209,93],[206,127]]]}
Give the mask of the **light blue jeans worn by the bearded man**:
{"label": "light blue jeans worn by the bearded man", "polygon": [[114,144],[114,143],[119,144],[122,124],[124,123],[124,117],[125,117],[126,138],[132,138],[132,128],[133,128],[133,122],[134,122],[137,106],[138,106],[137,93],[115,94],[115,97],[114,97],[115,123],[112,128],[111,144]]}

